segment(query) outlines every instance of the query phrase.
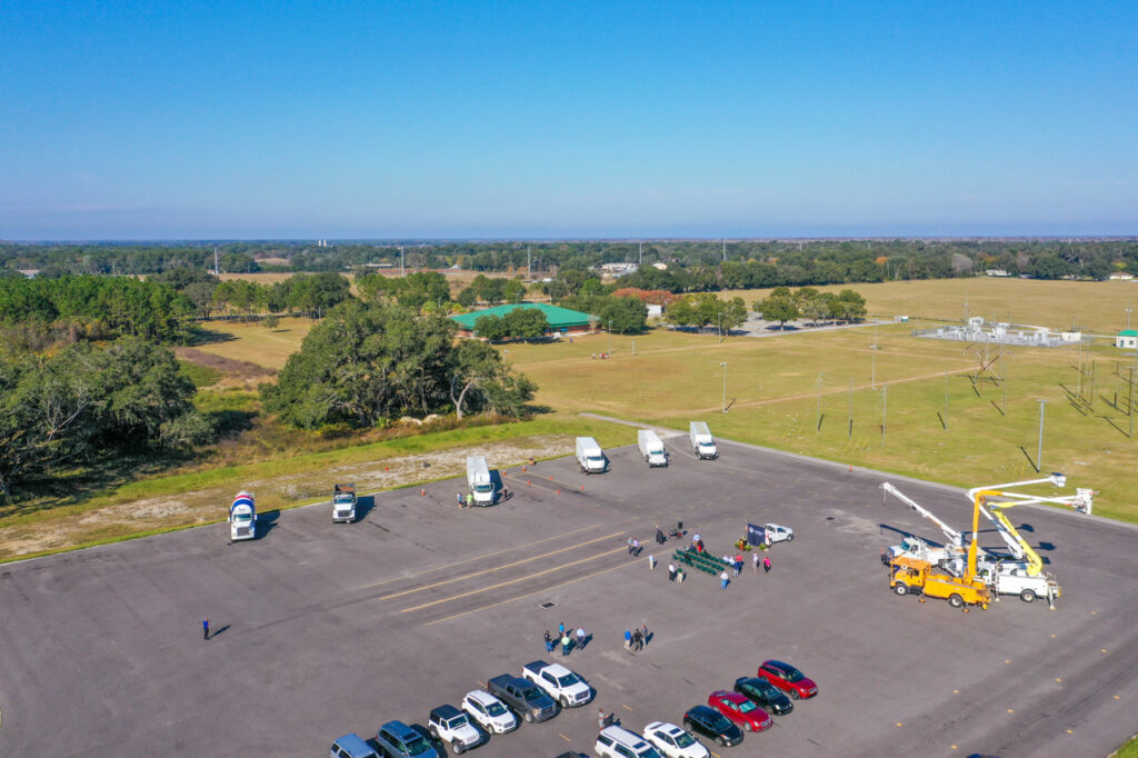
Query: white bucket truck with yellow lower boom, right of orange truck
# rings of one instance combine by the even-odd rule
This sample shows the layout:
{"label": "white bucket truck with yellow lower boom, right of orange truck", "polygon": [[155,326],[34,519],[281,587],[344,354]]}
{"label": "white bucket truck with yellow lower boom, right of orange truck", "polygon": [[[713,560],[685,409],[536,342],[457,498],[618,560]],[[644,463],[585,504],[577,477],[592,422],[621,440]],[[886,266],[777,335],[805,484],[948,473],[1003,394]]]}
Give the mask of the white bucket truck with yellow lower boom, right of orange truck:
{"label": "white bucket truck with yellow lower boom, right of orange truck", "polygon": [[[1006,487],[1022,487],[1033,484],[1050,484],[1055,487],[1063,487],[1066,484],[1066,477],[1062,473],[1052,473],[1041,479],[1012,481],[989,487],[974,487],[968,491],[968,499],[973,501],[975,512],[983,513],[996,526],[996,532],[1004,539],[1005,544],[1007,544],[1008,550],[1012,551],[1012,555],[1015,558],[1014,561],[1003,561],[991,567],[990,570],[981,571],[988,584],[997,594],[1019,595],[1021,600],[1028,603],[1033,602],[1036,598],[1047,598],[1048,607],[1054,610],[1055,599],[1061,595],[1058,583],[1053,575],[1044,571],[1044,559],[1028,544],[1028,541],[1020,535],[1019,530],[1012,526],[1012,521],[1004,511],[1016,505],[1054,503],[1056,505],[1069,505],[1074,508],[1079,513],[1089,514],[1094,510],[1095,491],[1079,487],[1075,489],[1074,495],[1046,497],[1005,489]],[[1000,500],[993,501],[991,499]]]}

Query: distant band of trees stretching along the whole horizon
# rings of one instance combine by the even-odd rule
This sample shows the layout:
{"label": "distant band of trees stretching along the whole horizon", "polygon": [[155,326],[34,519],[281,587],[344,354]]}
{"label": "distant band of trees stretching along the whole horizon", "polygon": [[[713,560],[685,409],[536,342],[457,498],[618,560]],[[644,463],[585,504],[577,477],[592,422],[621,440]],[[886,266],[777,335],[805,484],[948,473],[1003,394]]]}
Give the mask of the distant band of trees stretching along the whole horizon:
{"label": "distant band of trees stretching along the whole horizon", "polygon": [[[0,272],[39,270],[42,277],[152,274],[214,265],[213,244],[0,245]],[[397,267],[401,244],[224,242],[220,267],[254,271],[346,271],[368,264]],[[402,245],[410,269],[462,269],[549,275],[563,266],[663,263],[690,270],[683,291],[715,288],[800,287],[892,279],[943,279],[1003,269],[1038,279],[1105,279],[1112,271],[1138,273],[1136,240],[663,240],[644,242],[422,242]],[[715,272],[712,277],[711,273]],[[637,285],[640,286],[640,285]]]}

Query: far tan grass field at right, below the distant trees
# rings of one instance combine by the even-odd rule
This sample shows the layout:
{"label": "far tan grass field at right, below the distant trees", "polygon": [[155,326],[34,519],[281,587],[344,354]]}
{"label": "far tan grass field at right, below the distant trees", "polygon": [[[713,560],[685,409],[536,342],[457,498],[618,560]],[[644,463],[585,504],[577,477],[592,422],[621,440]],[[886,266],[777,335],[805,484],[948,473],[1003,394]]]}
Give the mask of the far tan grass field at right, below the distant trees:
{"label": "far tan grass field at right, below the distant trees", "polygon": [[[1132,281],[1041,281],[976,277],[932,281],[891,281],[879,285],[835,285],[819,290],[852,289],[866,299],[869,314],[883,319],[960,320],[979,315],[991,321],[1038,324],[1114,335],[1127,326],[1128,307],[1138,305],[1138,283]],[[731,290],[724,298],[742,297],[750,307],[770,290]],[[965,308],[965,300],[967,308]],[[1138,327],[1138,313],[1131,314]]]}

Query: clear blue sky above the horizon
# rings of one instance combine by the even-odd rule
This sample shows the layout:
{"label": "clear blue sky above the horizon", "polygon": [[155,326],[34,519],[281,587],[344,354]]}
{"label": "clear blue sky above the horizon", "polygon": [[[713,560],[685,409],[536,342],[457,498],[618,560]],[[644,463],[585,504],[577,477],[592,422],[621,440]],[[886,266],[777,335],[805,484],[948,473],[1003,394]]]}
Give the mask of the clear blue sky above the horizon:
{"label": "clear blue sky above the horizon", "polygon": [[1136,2],[0,3],[0,239],[1138,233]]}

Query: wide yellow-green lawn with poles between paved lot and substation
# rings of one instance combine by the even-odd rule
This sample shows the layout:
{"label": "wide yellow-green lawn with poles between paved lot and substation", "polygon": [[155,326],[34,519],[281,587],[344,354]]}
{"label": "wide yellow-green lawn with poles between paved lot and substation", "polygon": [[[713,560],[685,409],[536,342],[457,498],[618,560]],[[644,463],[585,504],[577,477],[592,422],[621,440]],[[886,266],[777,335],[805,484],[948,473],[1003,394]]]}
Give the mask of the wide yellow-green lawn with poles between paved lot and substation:
{"label": "wide yellow-green lawn with poles between paved lot and substation", "polygon": [[[591,355],[609,349],[607,335],[503,349],[537,382],[538,402],[562,412],[679,429],[704,420],[725,438],[959,486],[1033,478],[1039,401],[1047,401],[1042,470],[1098,491],[1097,513],[1138,521],[1129,496],[1138,444],[1128,436],[1128,385],[1113,373],[1114,348],[1086,351],[1098,362],[1098,398],[1085,412],[1062,386],[1077,386],[1078,348],[1009,352],[1005,415],[1004,385],[982,381],[974,389],[967,378],[982,348],[916,339],[902,326],[881,328],[879,349],[872,340],[866,329],[721,344],[661,331],[637,337],[635,355],[633,338],[613,336],[613,357],[605,361]],[[1003,373],[998,361],[993,369]],[[1115,392],[1121,410],[1108,404]]]}

